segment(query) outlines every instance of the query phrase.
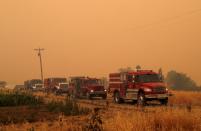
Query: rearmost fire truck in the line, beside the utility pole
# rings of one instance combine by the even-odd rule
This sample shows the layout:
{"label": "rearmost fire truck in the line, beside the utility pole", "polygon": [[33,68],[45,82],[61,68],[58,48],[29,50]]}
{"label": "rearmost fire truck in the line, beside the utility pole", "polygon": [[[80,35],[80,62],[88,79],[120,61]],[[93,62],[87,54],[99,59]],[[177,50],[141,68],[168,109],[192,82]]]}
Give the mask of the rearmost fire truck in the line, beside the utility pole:
{"label": "rearmost fire truck in the line, beside the utility pole", "polygon": [[24,88],[33,91],[40,91],[43,89],[43,82],[40,79],[32,79],[24,82]]}

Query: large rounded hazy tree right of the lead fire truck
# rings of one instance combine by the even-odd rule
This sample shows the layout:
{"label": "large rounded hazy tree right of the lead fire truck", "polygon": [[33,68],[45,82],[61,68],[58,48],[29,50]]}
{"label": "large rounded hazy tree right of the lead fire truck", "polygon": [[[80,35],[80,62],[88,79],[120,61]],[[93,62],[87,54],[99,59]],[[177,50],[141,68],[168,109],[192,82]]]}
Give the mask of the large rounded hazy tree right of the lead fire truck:
{"label": "large rounded hazy tree right of the lead fire truck", "polygon": [[199,90],[194,80],[174,70],[167,73],[166,82],[174,90]]}

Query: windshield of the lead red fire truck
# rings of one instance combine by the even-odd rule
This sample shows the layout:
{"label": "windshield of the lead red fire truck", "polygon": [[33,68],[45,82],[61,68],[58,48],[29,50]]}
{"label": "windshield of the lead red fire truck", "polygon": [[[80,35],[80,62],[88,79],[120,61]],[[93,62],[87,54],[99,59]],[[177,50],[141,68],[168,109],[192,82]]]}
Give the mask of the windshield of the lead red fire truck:
{"label": "windshield of the lead red fire truck", "polygon": [[136,82],[149,83],[149,82],[161,82],[159,75],[157,74],[143,74],[135,77]]}

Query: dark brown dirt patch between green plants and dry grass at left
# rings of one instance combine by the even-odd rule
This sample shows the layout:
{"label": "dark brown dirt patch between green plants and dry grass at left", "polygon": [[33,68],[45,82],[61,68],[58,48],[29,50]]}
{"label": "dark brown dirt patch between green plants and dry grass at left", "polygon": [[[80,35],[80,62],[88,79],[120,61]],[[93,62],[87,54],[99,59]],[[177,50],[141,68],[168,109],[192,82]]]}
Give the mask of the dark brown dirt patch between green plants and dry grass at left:
{"label": "dark brown dirt patch between green plants and dry grass at left", "polygon": [[53,121],[58,113],[47,111],[46,106],[0,107],[0,124],[16,124],[24,122]]}

